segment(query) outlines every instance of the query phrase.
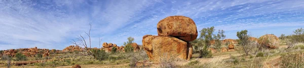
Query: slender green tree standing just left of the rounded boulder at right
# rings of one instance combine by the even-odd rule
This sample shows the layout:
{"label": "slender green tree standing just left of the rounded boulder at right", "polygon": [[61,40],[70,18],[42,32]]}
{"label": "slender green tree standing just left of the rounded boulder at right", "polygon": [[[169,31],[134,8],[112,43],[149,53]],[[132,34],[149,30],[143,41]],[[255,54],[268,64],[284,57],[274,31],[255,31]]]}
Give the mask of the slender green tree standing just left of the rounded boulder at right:
{"label": "slender green tree standing just left of the rounded boulder at right", "polygon": [[243,51],[246,53],[246,56],[248,53],[252,50],[252,47],[248,45],[250,43],[249,41],[249,35],[247,35],[247,30],[242,30],[241,32],[237,32],[237,36],[239,38],[239,44],[242,46]]}

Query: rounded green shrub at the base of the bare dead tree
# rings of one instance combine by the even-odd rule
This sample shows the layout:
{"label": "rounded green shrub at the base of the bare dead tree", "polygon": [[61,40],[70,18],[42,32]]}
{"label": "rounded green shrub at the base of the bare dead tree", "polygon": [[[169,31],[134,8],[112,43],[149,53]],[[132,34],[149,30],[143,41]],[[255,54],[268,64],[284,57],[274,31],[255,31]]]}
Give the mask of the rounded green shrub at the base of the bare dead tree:
{"label": "rounded green shrub at the base of the bare dead tree", "polygon": [[104,60],[108,58],[108,54],[104,50],[91,49],[91,51],[93,52],[94,58],[97,60]]}

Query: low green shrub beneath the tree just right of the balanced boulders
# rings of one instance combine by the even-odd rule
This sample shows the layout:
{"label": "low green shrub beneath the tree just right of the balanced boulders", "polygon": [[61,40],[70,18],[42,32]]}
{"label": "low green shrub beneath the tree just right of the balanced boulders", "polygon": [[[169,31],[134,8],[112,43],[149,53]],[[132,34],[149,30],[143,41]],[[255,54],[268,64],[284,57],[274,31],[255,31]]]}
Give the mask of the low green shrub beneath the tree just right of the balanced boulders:
{"label": "low green shrub beneath the tree just right of the balanced boulders", "polygon": [[207,46],[204,46],[203,49],[199,50],[199,57],[202,58],[202,57],[205,57],[205,58],[209,58],[209,57],[212,57],[212,53],[211,51],[208,51],[207,50]]}

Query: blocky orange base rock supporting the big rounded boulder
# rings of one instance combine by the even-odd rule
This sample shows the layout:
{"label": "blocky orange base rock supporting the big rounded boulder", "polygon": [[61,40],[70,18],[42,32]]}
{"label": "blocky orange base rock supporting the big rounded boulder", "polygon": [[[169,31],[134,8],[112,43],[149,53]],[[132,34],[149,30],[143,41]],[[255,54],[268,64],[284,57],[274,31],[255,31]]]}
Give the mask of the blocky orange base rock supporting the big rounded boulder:
{"label": "blocky orange base rock supporting the big rounded boulder", "polygon": [[[187,51],[187,42],[175,37],[145,35],[142,39],[143,49],[150,60],[158,61],[160,57],[188,59],[192,56]],[[191,47],[189,47],[191,48]]]}

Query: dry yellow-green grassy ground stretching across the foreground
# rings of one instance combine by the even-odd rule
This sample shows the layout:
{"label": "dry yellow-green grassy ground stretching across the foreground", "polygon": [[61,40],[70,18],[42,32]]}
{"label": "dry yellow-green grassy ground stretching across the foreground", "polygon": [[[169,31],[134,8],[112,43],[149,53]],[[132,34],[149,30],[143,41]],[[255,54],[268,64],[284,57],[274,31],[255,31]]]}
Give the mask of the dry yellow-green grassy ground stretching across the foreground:
{"label": "dry yellow-green grassy ground stretching across the foreground", "polygon": [[[281,42],[284,42],[281,41]],[[281,43],[279,48],[276,49],[263,49],[260,54],[250,54],[246,56],[242,50],[234,52],[218,52],[213,53],[212,58],[198,58],[199,54],[194,53],[193,58],[189,61],[178,60],[173,61],[173,64],[177,67],[280,67],[280,54],[292,53],[296,51],[303,51],[299,44],[297,49],[291,48],[285,50],[286,43]],[[239,46],[236,46],[239,47]],[[12,67],[71,67],[74,64],[80,64],[82,67],[130,67],[131,57],[135,54],[142,54],[143,51],[135,53],[108,53],[109,58],[105,60],[96,60],[92,56],[83,55],[81,53],[62,53],[62,54],[51,54],[49,57],[43,57],[37,59],[35,57],[28,57],[27,61],[31,60],[47,60],[46,62],[33,63],[28,65],[21,65]],[[146,56],[146,55],[144,55]],[[15,59],[15,58],[13,58]],[[145,61],[147,57],[139,59],[138,64],[144,64],[147,67],[160,67],[160,64]],[[16,62],[16,61],[12,61]],[[147,64],[147,65],[146,65]],[[6,61],[0,61],[0,67],[6,67]],[[137,65],[137,67],[144,67]]]}

